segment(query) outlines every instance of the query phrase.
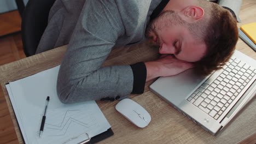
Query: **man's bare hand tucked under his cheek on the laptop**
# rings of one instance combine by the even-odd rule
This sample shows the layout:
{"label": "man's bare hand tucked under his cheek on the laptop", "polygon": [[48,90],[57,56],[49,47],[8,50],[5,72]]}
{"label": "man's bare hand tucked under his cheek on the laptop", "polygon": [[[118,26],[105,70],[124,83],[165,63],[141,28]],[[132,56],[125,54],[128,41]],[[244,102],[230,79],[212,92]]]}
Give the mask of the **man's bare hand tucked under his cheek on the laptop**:
{"label": "man's bare hand tucked under his cheek on the laptop", "polygon": [[146,62],[147,79],[152,80],[159,76],[172,76],[193,67],[193,63],[181,61],[172,55],[162,55],[156,61]]}

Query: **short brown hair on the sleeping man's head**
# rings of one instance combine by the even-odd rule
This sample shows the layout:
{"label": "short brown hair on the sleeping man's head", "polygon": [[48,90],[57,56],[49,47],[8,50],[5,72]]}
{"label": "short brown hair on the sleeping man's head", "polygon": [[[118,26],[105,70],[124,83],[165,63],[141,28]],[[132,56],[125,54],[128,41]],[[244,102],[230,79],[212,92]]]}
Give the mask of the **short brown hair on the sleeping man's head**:
{"label": "short brown hair on the sleeping man's head", "polygon": [[[200,0],[199,5],[210,15],[207,25],[202,29],[203,41],[207,52],[205,57],[195,62],[196,70],[202,75],[208,75],[221,69],[235,50],[238,40],[238,29],[235,18],[230,11],[220,5]],[[198,26],[197,26],[198,27]]]}

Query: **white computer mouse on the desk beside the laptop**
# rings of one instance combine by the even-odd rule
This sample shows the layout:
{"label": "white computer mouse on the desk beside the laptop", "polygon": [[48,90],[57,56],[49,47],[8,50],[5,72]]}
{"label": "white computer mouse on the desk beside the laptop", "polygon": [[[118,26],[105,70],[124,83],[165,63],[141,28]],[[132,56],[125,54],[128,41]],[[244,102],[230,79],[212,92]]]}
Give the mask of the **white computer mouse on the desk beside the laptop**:
{"label": "white computer mouse on the desk beside the laptop", "polygon": [[151,121],[151,116],[148,111],[131,99],[119,101],[119,103],[115,105],[115,109],[139,128],[146,127]]}

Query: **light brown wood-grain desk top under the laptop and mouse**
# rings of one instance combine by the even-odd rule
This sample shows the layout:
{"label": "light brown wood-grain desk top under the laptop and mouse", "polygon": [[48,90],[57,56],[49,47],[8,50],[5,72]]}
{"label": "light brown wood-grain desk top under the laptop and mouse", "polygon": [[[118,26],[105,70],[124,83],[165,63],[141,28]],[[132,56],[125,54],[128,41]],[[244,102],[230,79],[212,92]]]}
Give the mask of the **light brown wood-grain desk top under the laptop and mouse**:
{"label": "light brown wood-grain desk top under the laptop and mouse", "polygon": [[[248,19],[247,17],[247,15],[252,13],[248,12],[248,10],[255,12],[255,9],[253,9],[253,7],[251,8],[252,4],[249,4],[249,2],[252,1],[247,0],[243,2],[240,16],[242,23],[238,23],[238,27],[244,23],[255,22],[256,20],[255,15],[252,15],[254,19]],[[256,53],[243,43],[243,41],[238,41],[236,49],[256,59]],[[5,83],[59,65],[65,50],[66,46],[59,47],[0,67],[1,86],[20,143],[22,143],[22,139],[13,109],[11,108]],[[123,49],[114,49],[104,65],[131,64],[139,61],[149,61],[158,56],[157,51],[157,47],[148,42],[126,46],[123,47]],[[194,122],[190,121],[190,119],[183,116],[182,113],[179,113],[164,100],[150,92],[148,86],[152,82],[153,80],[146,83],[145,92],[143,94],[131,95],[131,98],[148,110],[152,116],[152,121],[146,128],[138,128],[121,116],[114,108],[118,101],[97,101],[97,104],[100,106],[110,125],[112,125],[112,130],[114,131],[114,136],[99,143],[237,143],[245,140],[247,137],[249,137],[249,139],[243,141],[243,143],[255,143],[255,99],[241,111],[240,115],[238,115],[228,127],[217,136],[212,136],[199,127],[199,125],[196,125]]]}

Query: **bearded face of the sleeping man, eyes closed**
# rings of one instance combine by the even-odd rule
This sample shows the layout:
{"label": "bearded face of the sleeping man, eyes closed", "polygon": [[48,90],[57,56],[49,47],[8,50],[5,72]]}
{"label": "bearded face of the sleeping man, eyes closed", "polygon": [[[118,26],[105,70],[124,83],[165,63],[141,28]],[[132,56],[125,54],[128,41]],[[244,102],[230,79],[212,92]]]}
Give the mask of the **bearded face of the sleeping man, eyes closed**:
{"label": "bearded face of the sleeping man, eyes closed", "polygon": [[199,61],[206,54],[205,43],[196,40],[174,11],[165,11],[149,23],[146,36],[159,46],[159,53],[173,54],[187,62]]}

